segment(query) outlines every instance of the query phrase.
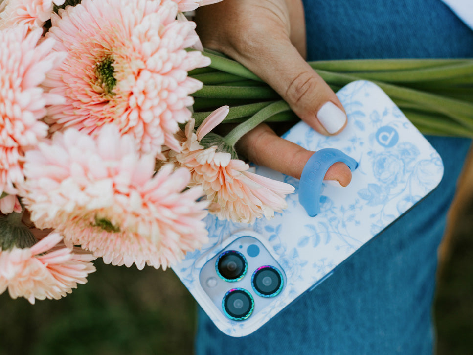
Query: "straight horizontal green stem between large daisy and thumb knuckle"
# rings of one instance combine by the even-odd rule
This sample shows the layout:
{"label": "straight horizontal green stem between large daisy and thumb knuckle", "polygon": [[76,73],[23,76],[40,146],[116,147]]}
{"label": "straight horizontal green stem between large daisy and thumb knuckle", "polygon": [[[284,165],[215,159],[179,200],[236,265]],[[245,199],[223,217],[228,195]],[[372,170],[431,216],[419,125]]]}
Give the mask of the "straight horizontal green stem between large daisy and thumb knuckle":
{"label": "straight horizontal green stem between large daisy and thumb knuckle", "polygon": [[194,94],[194,97],[212,98],[252,98],[252,99],[274,99],[279,95],[269,86],[264,87],[243,87],[243,86],[219,86],[204,85],[203,88]]}

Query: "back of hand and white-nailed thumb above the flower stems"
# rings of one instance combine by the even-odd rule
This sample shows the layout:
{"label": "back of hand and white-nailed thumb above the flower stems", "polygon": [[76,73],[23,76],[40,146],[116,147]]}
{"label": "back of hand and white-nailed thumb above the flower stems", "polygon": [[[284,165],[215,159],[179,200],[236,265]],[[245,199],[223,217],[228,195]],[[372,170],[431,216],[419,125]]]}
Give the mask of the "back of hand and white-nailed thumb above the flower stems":
{"label": "back of hand and white-nailed thumb above the flower stems", "polygon": [[295,3],[225,0],[199,8],[197,30],[205,47],[224,52],[258,75],[309,126],[337,134],[346,125],[345,110],[291,42],[291,35],[293,40],[304,37],[299,33],[304,24],[291,17]]}

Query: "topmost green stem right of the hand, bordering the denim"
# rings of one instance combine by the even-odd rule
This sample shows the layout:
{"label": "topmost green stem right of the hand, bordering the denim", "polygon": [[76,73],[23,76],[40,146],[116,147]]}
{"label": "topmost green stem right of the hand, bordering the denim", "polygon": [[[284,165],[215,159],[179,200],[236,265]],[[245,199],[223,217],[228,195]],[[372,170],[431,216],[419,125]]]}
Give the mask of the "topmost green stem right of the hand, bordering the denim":
{"label": "topmost green stem right of the hand, bordering the denim", "polygon": [[424,69],[443,65],[459,64],[471,59],[348,59],[313,61],[309,65],[313,69],[337,72],[353,71],[399,71]]}

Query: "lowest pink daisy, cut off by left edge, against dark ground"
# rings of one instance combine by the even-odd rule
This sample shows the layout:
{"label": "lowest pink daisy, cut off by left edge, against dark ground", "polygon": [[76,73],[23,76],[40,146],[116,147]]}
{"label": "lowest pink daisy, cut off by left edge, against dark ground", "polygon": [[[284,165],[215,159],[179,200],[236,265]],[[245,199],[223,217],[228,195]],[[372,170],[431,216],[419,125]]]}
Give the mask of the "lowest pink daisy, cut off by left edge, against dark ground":
{"label": "lowest pink daisy, cut off by left edge, against dark ground", "polygon": [[59,299],[85,284],[87,275],[95,271],[90,262],[95,257],[78,248],[61,246],[62,237],[52,233],[30,248],[0,247],[0,294],[7,288],[12,298]]}

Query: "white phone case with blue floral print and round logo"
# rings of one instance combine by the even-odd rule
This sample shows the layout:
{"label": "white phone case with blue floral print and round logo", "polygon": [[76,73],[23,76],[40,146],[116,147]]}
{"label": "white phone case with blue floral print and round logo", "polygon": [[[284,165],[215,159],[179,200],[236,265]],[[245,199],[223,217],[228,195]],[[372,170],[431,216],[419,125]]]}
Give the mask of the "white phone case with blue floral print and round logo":
{"label": "white phone case with blue floral print and round logo", "polygon": [[[442,178],[439,154],[377,85],[355,81],[337,95],[348,116],[347,127],[340,134],[323,136],[300,122],[283,137],[310,150],[336,148],[354,158],[358,167],[352,172],[349,186],[324,182],[320,187],[320,213],[310,217],[299,203],[299,180],[256,166],[257,174],[296,188],[286,198],[288,208],[253,224],[209,215],[209,243],[173,266],[225,334],[244,336],[270,321],[295,298],[332,275],[338,265],[426,196]],[[251,251],[255,249],[263,252],[253,258]],[[246,276],[236,282],[227,282],[221,275],[211,276],[219,272],[215,262],[225,250],[235,251],[237,257],[236,252],[241,251],[248,260]],[[260,257],[272,258],[274,268],[280,268],[283,285],[274,297],[252,288],[256,270],[265,266],[258,263]],[[253,313],[241,320],[230,319],[224,307],[230,301],[225,297],[229,291],[241,289],[253,298]],[[249,299],[243,291],[238,292]],[[240,303],[235,303],[236,307]]]}

